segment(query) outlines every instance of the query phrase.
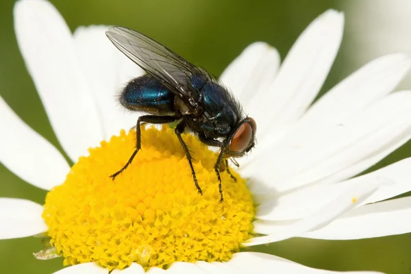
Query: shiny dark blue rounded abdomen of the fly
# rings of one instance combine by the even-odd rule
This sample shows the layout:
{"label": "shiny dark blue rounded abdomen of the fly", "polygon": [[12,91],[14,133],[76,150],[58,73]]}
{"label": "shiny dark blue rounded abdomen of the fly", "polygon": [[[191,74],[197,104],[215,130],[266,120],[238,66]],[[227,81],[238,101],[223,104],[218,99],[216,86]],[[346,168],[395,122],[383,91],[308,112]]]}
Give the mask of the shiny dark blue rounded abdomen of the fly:
{"label": "shiny dark blue rounded abdomen of the fly", "polygon": [[129,110],[166,115],[174,112],[174,94],[151,75],[133,79],[120,95]]}

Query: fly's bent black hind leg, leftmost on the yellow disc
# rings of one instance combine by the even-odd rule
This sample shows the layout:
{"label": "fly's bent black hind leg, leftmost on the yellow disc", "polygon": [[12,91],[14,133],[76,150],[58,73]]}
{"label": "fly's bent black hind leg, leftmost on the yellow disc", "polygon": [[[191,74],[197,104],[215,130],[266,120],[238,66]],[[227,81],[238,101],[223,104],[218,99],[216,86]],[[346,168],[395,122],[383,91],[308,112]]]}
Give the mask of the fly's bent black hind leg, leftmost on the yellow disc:
{"label": "fly's bent black hind leg, leftmost on the yellow disc", "polygon": [[110,178],[113,180],[116,179],[117,175],[125,171],[129,164],[133,162],[134,157],[136,157],[137,152],[141,149],[141,129],[140,129],[140,124],[141,123],[152,123],[152,124],[166,124],[166,123],[171,123],[176,120],[178,120],[179,117],[176,116],[155,116],[155,115],[144,115],[140,116],[137,119],[137,125],[136,125],[136,149],[134,150],[132,156],[129,158],[127,163],[121,168],[119,171],[114,173],[113,175],[110,175]]}

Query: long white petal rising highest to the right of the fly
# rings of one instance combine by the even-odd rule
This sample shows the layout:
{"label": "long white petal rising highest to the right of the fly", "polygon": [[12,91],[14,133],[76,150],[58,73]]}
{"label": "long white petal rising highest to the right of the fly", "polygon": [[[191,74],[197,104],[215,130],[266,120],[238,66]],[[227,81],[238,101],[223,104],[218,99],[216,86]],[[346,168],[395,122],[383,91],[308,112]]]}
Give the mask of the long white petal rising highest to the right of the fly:
{"label": "long white petal rising highest to the right of the fly", "polygon": [[258,140],[268,129],[282,132],[312,103],[340,47],[343,25],[343,14],[335,10],[316,18],[290,49],[273,85],[253,97],[247,112],[257,121]]}

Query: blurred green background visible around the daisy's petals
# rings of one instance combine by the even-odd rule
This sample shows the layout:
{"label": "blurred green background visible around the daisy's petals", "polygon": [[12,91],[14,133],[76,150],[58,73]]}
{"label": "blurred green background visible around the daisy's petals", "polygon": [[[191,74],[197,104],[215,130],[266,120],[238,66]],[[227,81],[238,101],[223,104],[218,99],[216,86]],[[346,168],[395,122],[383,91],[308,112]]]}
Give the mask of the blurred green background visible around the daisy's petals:
{"label": "blurred green background visible around the daisy's petals", "polygon": [[[347,9],[347,1],[325,0],[51,2],[72,30],[79,25],[93,24],[125,25],[138,29],[215,75],[219,75],[242,49],[257,40],[269,42],[284,59],[292,43],[316,16],[335,8],[343,10],[349,22],[352,10],[352,7]],[[0,2],[0,95],[27,124],[59,147],[18,51],[13,29],[13,5],[14,1],[11,0]],[[352,2],[352,5],[355,10],[356,3]],[[353,23],[350,27],[356,29]],[[322,93],[358,68],[358,64],[350,61],[356,51],[350,44],[351,29],[345,29],[342,49]],[[409,157],[410,151],[411,144],[408,142],[373,169]],[[44,202],[45,191],[23,182],[2,165],[0,178],[0,197]],[[37,238],[1,240],[1,273],[52,273],[62,267],[61,259],[34,259],[32,253],[40,249],[42,245]],[[272,253],[315,268],[411,273],[411,234],[334,242],[295,238],[253,250]]]}

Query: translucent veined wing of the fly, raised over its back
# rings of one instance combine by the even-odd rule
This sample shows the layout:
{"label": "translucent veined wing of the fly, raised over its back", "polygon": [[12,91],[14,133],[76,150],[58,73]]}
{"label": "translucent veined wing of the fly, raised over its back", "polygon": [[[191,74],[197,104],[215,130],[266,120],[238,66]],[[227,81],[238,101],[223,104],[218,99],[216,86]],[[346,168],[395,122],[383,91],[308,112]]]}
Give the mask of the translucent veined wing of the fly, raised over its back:
{"label": "translucent veined wing of the fly, raised over its back", "polygon": [[179,96],[190,110],[197,108],[191,76],[210,75],[155,40],[127,27],[110,27],[105,35],[127,57]]}

